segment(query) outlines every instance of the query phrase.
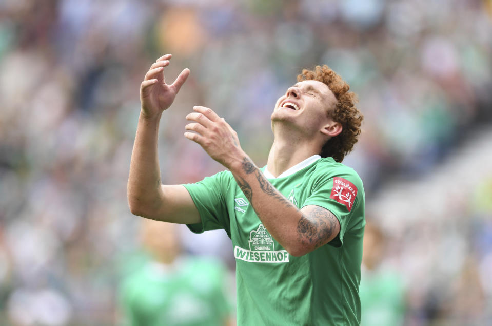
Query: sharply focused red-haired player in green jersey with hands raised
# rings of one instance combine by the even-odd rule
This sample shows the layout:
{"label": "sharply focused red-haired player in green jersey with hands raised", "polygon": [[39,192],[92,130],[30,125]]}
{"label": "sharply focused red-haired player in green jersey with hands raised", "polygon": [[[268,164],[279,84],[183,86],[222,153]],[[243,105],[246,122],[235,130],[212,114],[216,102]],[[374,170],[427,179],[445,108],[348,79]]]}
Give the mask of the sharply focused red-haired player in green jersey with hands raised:
{"label": "sharply focused red-haired player in green jersey with hands raised", "polygon": [[[224,228],[236,260],[239,325],[356,325],[365,198],[341,164],[360,134],[355,94],[327,66],[304,69],[271,114],[274,141],[257,167],[213,110],[193,107],[184,136],[228,170],[185,185],[161,185],[158,129],[186,81],[164,79],[167,54],[141,84],[141,112],[128,180],[133,214]],[[179,162],[176,162],[179,164]]]}

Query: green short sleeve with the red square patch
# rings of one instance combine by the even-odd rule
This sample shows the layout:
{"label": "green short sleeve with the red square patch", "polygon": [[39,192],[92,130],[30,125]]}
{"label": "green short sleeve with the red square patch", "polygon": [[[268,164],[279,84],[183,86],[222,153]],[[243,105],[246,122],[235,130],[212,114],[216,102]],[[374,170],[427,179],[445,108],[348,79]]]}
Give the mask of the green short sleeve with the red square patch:
{"label": "green short sleeve with the red square patch", "polygon": [[[319,176],[312,182],[311,194],[302,206],[317,205],[328,209],[340,222],[340,233],[329,244],[340,247],[348,229],[361,215],[362,181],[357,174],[343,173],[337,177]],[[363,210],[363,209],[362,209]],[[362,213],[363,215],[363,213]],[[362,224],[361,224],[362,227]]]}

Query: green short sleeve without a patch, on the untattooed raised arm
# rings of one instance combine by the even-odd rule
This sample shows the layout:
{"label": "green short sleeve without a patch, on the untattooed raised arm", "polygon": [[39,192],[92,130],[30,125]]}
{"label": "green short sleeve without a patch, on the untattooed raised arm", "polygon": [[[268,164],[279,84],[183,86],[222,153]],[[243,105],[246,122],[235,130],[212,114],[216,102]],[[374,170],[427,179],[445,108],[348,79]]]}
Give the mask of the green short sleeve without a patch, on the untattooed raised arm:
{"label": "green short sleeve without a patch, on the untattooed raised arm", "polygon": [[224,200],[227,191],[227,171],[205,177],[197,183],[184,184],[200,213],[201,223],[187,224],[194,233],[225,229],[230,237],[230,222]]}

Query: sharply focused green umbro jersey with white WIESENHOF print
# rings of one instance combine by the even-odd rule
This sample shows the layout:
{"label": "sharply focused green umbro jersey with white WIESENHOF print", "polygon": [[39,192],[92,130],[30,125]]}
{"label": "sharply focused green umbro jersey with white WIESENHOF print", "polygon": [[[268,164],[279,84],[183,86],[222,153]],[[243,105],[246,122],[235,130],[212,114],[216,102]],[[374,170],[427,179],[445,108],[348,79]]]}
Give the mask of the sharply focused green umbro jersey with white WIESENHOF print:
{"label": "sharply focused green umbro jersey with white WIESENHOF print", "polygon": [[327,245],[291,256],[262,225],[230,171],[185,185],[202,219],[188,227],[195,233],[224,228],[231,238],[238,325],[359,324],[362,181],[332,158],[314,156],[297,167],[287,176],[267,179],[299,209],[317,205],[338,218],[340,233]]}

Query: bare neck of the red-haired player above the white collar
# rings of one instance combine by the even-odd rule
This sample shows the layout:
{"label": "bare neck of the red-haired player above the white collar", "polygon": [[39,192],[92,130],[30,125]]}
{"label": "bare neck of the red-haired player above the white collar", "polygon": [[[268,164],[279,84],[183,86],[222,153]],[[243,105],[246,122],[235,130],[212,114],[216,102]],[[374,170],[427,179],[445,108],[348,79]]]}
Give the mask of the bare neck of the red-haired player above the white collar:
{"label": "bare neck of the red-haired player above the white collar", "polygon": [[312,142],[292,142],[275,137],[268,154],[267,169],[278,177],[287,169],[316,154],[320,154],[320,148],[313,146]]}

